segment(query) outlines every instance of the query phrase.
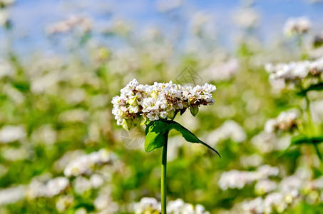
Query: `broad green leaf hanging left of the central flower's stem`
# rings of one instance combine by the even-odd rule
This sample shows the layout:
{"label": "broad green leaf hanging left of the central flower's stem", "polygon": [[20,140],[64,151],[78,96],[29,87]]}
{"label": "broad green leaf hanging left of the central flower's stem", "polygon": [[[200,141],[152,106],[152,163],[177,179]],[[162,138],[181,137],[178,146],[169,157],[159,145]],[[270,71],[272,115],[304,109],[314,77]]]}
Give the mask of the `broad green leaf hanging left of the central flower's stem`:
{"label": "broad green leaf hanging left of the central flower's stem", "polygon": [[150,152],[164,146],[168,138],[168,123],[152,121],[145,128],[145,151]]}

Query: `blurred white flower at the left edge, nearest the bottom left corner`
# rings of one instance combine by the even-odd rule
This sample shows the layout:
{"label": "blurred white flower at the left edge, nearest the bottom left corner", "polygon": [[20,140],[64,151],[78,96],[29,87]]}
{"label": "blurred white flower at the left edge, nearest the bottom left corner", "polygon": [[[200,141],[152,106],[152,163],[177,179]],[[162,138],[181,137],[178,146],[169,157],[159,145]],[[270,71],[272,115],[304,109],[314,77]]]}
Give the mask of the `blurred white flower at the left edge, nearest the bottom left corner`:
{"label": "blurred white flower at the left edge, nearest the bottom left corner", "polygon": [[0,189],[0,206],[15,203],[25,196],[26,187],[19,185],[16,187]]}

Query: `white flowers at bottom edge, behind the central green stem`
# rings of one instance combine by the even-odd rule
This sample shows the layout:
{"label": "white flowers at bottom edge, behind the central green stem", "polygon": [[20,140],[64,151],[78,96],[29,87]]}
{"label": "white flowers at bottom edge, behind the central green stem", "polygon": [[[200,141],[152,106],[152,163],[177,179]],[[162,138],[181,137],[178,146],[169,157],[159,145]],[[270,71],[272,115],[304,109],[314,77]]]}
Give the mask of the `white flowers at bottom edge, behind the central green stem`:
{"label": "white flowers at bottom edge, behind the central green stem", "polygon": [[[209,214],[202,205],[185,203],[182,199],[172,200],[167,205],[170,214]],[[141,198],[135,204],[135,213],[160,213],[160,203],[155,198]]]}

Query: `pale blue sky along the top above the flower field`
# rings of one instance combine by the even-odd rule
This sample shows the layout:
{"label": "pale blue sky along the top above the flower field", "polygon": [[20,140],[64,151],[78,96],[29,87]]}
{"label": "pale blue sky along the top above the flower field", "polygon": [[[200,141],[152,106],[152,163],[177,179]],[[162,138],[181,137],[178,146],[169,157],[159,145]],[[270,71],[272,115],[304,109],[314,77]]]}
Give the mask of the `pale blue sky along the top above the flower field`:
{"label": "pale blue sky along the top above the flower field", "polygon": [[[185,12],[182,21],[190,19],[190,15],[195,11],[202,11],[212,16],[217,31],[229,34],[230,31],[235,30],[232,14],[242,4],[242,1],[231,0],[186,0],[183,4]],[[46,49],[48,44],[44,27],[69,14],[87,14],[94,21],[101,22],[118,16],[133,23],[138,31],[146,26],[158,26],[164,31],[170,30],[169,26],[172,25],[170,20],[165,14],[161,14],[155,5],[156,2],[151,0],[17,0],[10,11],[14,21],[16,46],[28,51],[29,49]],[[113,11],[112,16],[102,11],[102,8]],[[252,8],[259,11],[261,15],[258,31],[264,37],[280,33],[284,21],[289,16],[309,16],[314,29],[317,31],[323,29],[323,4],[308,4],[305,0],[260,0],[254,1]]]}

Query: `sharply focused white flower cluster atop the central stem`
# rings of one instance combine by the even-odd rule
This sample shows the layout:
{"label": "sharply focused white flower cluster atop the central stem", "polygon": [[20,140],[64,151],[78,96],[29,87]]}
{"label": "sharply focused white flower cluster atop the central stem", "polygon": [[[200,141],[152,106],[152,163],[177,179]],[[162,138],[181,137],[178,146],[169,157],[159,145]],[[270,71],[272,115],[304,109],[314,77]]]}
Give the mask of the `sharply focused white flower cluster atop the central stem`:
{"label": "sharply focused white flower cluster atop the central stem", "polygon": [[190,108],[193,116],[198,107],[212,105],[212,92],[216,87],[205,83],[204,86],[180,86],[169,83],[157,83],[152,86],[139,84],[136,79],[121,89],[121,95],[112,100],[112,113],[117,124],[125,129],[137,126],[141,121],[156,121],[174,118],[178,111]]}

